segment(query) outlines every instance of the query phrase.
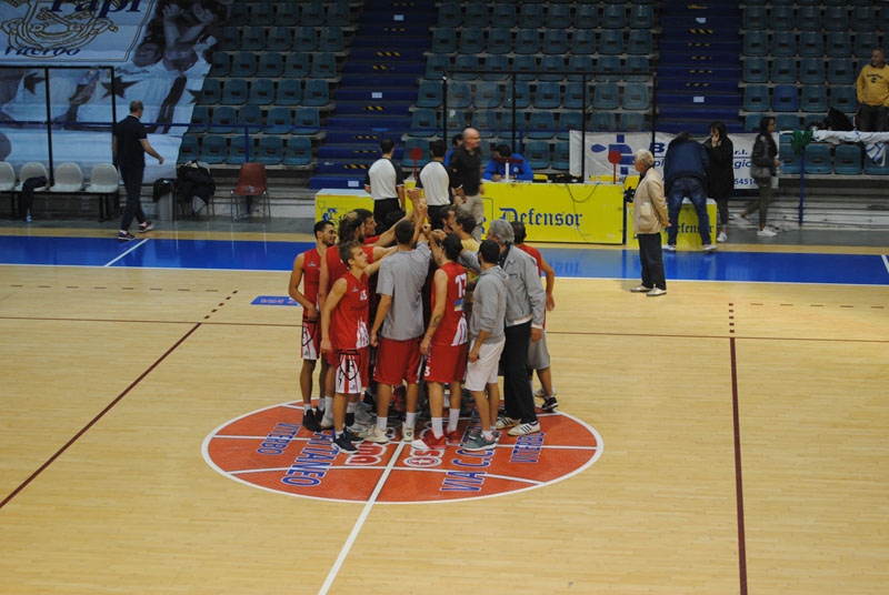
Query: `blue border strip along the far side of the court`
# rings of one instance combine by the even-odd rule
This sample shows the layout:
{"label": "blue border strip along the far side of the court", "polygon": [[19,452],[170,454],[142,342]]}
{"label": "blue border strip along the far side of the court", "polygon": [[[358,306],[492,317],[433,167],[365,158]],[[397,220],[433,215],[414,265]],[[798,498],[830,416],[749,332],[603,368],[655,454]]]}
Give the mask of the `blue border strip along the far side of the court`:
{"label": "blue border strip along the far side of the court", "polygon": [[[308,242],[0,235],[0,264],[290,271]],[[638,280],[635,250],[546,248],[543,258],[560,278]],[[888,251],[889,252],[889,251]],[[889,262],[873,254],[775,252],[665,253],[668,280],[889,285]]]}

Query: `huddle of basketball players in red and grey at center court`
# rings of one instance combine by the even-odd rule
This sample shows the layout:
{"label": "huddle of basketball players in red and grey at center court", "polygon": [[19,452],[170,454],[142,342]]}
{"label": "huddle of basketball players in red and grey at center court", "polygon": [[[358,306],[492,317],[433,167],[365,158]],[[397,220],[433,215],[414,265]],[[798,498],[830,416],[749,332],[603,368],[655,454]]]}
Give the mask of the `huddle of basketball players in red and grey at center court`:
{"label": "huddle of basketball players in red and grey at center court", "polygon": [[[498,364],[506,355],[510,291],[509,276],[498,263],[503,264],[503,251],[513,248],[513,230],[506,221],[500,222],[501,228],[508,228],[508,245],[497,239],[479,243],[471,238],[471,215],[449,210],[430,225],[427,214],[426,202],[413,201],[413,210],[380,235],[376,235],[372,213],[362,209],[347,213],[338,229],[330,221],[319,221],[314,225],[316,246],[299,254],[293,263],[289,293],[303,307],[303,425],[313,432],[331,430],[332,445],[340,451],[354,452],[354,444],[361,441],[389,442],[393,387],[404,383],[407,412],[401,440],[416,448],[461,444],[467,450],[487,450],[496,444],[498,430],[510,428],[512,435],[539,431],[533,413],[528,420],[525,414],[498,417]],[[541,310],[542,301],[551,310],[552,269],[536,250],[523,245],[523,226],[518,224],[515,231],[521,234],[516,239],[518,255],[537,266],[536,275],[529,275],[528,293],[535,295]],[[541,271],[547,276],[546,290]],[[532,336],[540,337],[541,333]],[[525,353],[529,367],[522,366],[521,382],[531,410],[529,369],[538,371],[542,387],[537,394],[543,399],[542,407],[551,411],[558,403],[546,341],[535,340]],[[324,396],[314,410],[312,373],[319,359]],[[371,367],[377,383],[376,421],[359,401],[371,384]],[[422,438],[414,437],[421,380],[427,385],[431,414],[431,428]],[[447,427],[446,386],[450,389]],[[480,430],[465,437],[457,427],[462,386],[472,394],[480,422]]]}

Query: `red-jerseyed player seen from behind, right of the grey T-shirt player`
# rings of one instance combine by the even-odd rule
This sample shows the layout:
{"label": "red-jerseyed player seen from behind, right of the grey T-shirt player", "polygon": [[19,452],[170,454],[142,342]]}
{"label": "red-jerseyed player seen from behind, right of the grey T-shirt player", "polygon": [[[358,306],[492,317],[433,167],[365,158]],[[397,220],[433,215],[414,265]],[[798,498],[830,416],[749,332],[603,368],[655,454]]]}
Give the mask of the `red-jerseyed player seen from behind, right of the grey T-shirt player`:
{"label": "red-jerseyed player seen from behind, right of the grey T-shirt player", "polygon": [[[413,441],[414,448],[444,448],[450,442],[459,444],[457,423],[460,418],[460,381],[466,374],[469,329],[463,312],[467,273],[458,262],[463,245],[451,233],[442,242],[446,262],[433,276],[432,316],[420,343],[427,356],[423,379],[429,387],[429,411],[432,433]],[[448,430],[444,432],[444,384],[450,384]]]}

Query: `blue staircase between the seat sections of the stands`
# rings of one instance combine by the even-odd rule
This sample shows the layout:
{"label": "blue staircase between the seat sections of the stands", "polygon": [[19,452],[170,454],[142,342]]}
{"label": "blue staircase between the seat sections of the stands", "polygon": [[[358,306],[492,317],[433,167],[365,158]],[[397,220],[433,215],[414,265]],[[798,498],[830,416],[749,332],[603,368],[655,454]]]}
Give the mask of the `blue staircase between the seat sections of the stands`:
{"label": "blue staircase between the seat sections of the stands", "polygon": [[327,138],[318,149],[311,189],[363,188],[364,171],[379,158],[380,140],[396,141],[410,129],[410,108],[423,74],[423,51],[436,22],[430,0],[367,0],[349,60],[327,119]]}

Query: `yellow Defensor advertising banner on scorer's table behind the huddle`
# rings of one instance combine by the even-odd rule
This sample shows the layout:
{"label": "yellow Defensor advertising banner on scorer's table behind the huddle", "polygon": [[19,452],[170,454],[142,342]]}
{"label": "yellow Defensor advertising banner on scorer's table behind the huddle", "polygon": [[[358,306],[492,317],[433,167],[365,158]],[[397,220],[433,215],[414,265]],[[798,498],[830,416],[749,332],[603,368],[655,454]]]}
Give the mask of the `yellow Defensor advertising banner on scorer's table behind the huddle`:
{"label": "yellow Defensor advertising banner on scorer's table behind the huddle", "polygon": [[[412,183],[408,184],[412,186]],[[623,188],[620,184],[485,183],[485,223],[521,221],[529,242],[620,244],[623,242]],[[321,190],[317,219],[339,221],[352,209],[373,210],[359,190]]]}

